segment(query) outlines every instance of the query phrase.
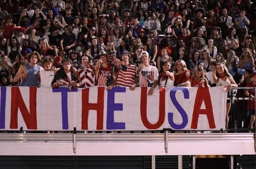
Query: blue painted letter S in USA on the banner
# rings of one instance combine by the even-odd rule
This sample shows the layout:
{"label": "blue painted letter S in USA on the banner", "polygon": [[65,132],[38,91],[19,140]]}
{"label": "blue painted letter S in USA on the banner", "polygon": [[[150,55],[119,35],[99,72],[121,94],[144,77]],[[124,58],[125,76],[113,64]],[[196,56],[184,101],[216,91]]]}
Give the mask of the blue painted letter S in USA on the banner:
{"label": "blue painted letter S in USA on the banner", "polygon": [[175,97],[175,94],[178,90],[181,90],[183,92],[184,99],[189,99],[189,92],[188,92],[188,89],[184,87],[174,87],[170,92],[170,98],[172,100],[173,105],[177,108],[177,110],[179,111],[182,117],[182,123],[181,124],[174,123],[173,113],[168,113],[168,122],[173,129],[184,129],[188,124],[188,115],[185,112],[185,110],[180,106],[180,104],[178,103]]}

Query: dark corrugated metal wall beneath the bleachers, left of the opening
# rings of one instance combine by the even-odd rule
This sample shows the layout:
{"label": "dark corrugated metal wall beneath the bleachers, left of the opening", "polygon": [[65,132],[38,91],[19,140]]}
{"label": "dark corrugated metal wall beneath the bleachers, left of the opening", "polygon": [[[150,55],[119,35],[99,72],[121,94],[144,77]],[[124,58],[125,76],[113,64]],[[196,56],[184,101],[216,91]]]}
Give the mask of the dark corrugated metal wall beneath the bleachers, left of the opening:
{"label": "dark corrugated metal wall beneath the bleachers, left of the opening", "polygon": [[[190,157],[183,156],[183,169]],[[156,169],[178,168],[178,156],[156,156]],[[151,156],[0,156],[0,169],[151,169]]]}

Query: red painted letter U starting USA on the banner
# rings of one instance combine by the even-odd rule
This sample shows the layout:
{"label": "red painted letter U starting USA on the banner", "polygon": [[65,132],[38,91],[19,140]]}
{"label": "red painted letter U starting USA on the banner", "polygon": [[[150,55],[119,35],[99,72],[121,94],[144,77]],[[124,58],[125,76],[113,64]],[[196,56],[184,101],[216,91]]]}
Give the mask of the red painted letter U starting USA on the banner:
{"label": "red painted letter U starting USA on the banner", "polygon": [[151,124],[147,118],[147,87],[141,87],[140,94],[140,116],[141,121],[147,129],[158,129],[164,123],[165,118],[165,90],[160,90],[159,96],[159,116],[155,124]]}

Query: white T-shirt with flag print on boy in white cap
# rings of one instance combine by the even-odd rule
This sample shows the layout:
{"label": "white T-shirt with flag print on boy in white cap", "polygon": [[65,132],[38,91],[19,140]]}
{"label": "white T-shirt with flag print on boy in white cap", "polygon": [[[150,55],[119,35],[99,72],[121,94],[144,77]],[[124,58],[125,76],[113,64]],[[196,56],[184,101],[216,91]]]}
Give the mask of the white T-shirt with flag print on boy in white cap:
{"label": "white T-shirt with flag print on boy in white cap", "polygon": [[154,81],[158,80],[158,70],[155,66],[149,65],[148,67],[142,68],[138,76],[140,87],[152,87]]}

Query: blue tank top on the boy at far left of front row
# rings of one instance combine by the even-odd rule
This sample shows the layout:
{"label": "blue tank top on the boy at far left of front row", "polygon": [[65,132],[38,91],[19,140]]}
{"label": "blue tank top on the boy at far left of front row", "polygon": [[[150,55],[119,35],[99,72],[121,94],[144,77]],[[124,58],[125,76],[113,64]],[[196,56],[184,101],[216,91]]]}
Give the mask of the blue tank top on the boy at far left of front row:
{"label": "blue tank top on the boy at far left of front row", "polygon": [[20,86],[36,86],[37,87],[37,72],[40,66],[37,64],[35,67],[31,67],[29,63],[26,64],[27,67],[27,77],[20,83]]}

